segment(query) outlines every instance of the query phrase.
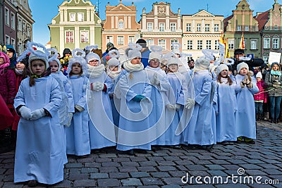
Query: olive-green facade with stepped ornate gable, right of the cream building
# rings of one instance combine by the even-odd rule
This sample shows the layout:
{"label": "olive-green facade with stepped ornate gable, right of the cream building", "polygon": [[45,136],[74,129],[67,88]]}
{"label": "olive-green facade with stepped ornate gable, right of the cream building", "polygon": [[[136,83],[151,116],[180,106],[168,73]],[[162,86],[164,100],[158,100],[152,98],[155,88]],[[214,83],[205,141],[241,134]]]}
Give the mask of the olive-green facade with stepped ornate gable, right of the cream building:
{"label": "olive-green facade with stepped ornate gable, right of the cream building", "polygon": [[253,17],[250,5],[246,0],[241,0],[233,14],[224,19],[224,34],[228,39],[228,48],[231,56],[238,49],[242,34],[245,37],[245,54],[254,54],[261,58],[261,36],[259,34],[259,23]]}

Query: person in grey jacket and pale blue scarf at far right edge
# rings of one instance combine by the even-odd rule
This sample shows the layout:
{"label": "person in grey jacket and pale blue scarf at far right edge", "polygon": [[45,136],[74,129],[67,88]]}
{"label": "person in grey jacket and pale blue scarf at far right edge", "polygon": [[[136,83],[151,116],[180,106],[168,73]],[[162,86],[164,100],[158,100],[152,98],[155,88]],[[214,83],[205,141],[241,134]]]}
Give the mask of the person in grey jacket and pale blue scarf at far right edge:
{"label": "person in grey jacket and pale blue scarf at far right edge", "polygon": [[269,90],[271,123],[278,123],[282,99],[282,77],[279,63],[271,64],[271,70],[266,73],[264,82],[269,87],[267,90]]}

